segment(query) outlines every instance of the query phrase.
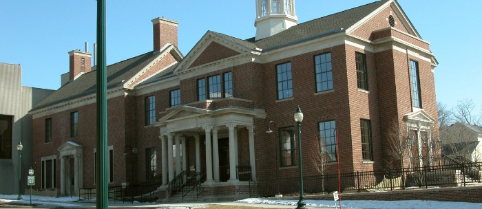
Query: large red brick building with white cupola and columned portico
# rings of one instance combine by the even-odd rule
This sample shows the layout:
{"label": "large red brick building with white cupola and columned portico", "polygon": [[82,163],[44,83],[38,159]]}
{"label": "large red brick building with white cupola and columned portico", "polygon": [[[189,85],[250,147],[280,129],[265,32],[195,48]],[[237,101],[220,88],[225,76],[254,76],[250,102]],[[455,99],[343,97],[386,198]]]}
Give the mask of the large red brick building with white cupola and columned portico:
{"label": "large red brick building with white cupola and columned portico", "polygon": [[[152,52],[107,67],[109,186],[162,175],[163,190],[185,170],[205,195],[233,195],[245,175],[297,177],[297,107],[307,176],[320,151],[327,172],[386,168],[392,124],[416,136],[411,155],[437,152],[421,145],[437,141],[437,61],[397,1],[300,24],[294,0],[256,7],[252,39],[208,31],[182,56],[178,23],[158,18]],[[90,56],[70,52],[70,82],[30,111],[38,188],[61,195],[94,187]]]}

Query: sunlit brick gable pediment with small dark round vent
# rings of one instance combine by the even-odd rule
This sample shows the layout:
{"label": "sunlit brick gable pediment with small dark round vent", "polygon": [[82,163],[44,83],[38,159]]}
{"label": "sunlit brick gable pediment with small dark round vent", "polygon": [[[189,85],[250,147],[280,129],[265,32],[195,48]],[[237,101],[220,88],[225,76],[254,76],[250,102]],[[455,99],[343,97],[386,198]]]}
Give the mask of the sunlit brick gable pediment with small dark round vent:
{"label": "sunlit brick gable pediment with small dark round vent", "polygon": [[[390,20],[390,16],[393,19]],[[369,36],[371,32],[390,28],[390,21],[395,23],[392,28],[421,39],[415,26],[412,25],[404,10],[401,9],[401,6],[395,0],[386,1],[386,3],[377,8],[377,10],[374,10],[364,17],[364,19],[361,19],[348,28],[346,33],[362,37],[363,39],[370,39]]]}

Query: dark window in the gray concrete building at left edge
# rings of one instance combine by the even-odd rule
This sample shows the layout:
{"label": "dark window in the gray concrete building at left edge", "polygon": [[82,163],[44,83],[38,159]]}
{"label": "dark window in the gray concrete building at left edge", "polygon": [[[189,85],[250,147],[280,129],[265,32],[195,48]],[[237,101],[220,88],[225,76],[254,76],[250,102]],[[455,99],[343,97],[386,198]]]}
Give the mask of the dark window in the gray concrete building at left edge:
{"label": "dark window in the gray concrete building at left edge", "polygon": [[0,159],[12,159],[11,115],[0,115]]}

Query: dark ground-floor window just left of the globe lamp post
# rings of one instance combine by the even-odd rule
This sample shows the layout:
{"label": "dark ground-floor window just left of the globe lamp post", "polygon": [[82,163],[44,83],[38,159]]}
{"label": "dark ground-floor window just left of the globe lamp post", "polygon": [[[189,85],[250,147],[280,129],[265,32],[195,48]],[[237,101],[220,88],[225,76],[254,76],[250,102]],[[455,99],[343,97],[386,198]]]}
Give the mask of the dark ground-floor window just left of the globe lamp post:
{"label": "dark ground-floor window just left of the globe lamp post", "polygon": [[280,161],[281,166],[295,165],[294,127],[280,129]]}

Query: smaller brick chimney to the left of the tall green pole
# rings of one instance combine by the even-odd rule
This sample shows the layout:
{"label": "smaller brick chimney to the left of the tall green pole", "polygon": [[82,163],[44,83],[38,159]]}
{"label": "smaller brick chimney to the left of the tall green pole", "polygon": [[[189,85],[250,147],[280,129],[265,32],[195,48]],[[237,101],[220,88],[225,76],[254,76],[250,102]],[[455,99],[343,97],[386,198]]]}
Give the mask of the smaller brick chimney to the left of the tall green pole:
{"label": "smaller brick chimney to the left of the tall green pole", "polygon": [[70,56],[70,72],[69,80],[74,80],[78,74],[87,73],[91,70],[91,57],[89,52],[81,52],[79,50],[72,50],[69,52]]}

